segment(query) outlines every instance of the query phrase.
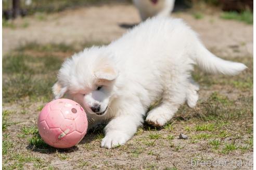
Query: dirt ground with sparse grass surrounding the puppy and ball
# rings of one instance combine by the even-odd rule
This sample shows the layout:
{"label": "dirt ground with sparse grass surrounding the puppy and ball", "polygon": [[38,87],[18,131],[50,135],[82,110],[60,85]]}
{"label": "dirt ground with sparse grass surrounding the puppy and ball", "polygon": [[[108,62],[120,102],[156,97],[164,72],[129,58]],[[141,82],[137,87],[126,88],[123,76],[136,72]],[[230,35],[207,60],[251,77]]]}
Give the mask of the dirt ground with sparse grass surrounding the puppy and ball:
{"label": "dirt ground with sparse grass surrounding the puppy and ball", "polygon": [[[136,9],[120,4],[85,7],[18,19],[12,23],[15,26],[4,27],[3,169],[252,169],[253,26],[222,20],[217,12],[199,20],[189,12],[173,16],[191,25],[215,54],[245,63],[248,69],[234,77],[209,76],[196,69],[194,79],[200,84],[196,108],[182,106],[162,129],[144,124],[127,144],[115,149],[100,148],[102,127],[71,149],[45,146],[36,119],[50,100],[49,87],[63,59],[86,43],[109,43],[120,37],[127,31],[120,25],[139,22]],[[38,45],[26,45],[35,42]],[[29,62],[23,63],[21,57]],[[24,81],[19,72],[45,80],[48,89],[34,89],[29,85],[40,81]],[[40,100],[27,91],[36,91]],[[24,95],[11,97],[18,92]],[[188,139],[178,139],[180,133]],[[210,166],[202,165],[207,161]]]}

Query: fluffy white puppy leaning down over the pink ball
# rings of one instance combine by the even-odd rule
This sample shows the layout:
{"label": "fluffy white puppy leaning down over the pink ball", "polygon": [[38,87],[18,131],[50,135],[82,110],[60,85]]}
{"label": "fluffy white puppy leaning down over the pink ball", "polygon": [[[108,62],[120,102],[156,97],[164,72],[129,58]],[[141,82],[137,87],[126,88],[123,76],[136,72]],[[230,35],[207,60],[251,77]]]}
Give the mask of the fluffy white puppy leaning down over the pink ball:
{"label": "fluffy white puppy leaning down over the pink ball", "polygon": [[244,64],[217,58],[180,19],[152,18],[108,46],[86,48],[63,63],[53,87],[87,110],[91,126],[108,120],[102,147],[124,144],[146,121],[163,126],[184,102],[198,100],[193,65],[210,73],[235,75]]}

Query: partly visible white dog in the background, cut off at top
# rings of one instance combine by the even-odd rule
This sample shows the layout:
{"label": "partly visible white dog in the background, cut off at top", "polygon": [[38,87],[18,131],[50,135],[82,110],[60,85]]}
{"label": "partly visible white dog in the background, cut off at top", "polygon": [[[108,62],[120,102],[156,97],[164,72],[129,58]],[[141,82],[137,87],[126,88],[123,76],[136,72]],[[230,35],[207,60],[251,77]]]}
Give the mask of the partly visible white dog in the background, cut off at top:
{"label": "partly visible white dog in the background, cut off at top", "polygon": [[140,18],[145,21],[153,16],[169,16],[175,0],[133,0],[133,3],[139,10]]}

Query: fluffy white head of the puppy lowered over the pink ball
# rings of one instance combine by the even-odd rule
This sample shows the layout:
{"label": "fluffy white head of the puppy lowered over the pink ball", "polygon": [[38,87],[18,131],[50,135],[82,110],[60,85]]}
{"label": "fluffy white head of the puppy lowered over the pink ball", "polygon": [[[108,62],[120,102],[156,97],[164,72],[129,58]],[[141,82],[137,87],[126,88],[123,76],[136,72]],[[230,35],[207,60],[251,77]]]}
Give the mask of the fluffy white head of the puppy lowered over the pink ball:
{"label": "fluffy white head of the puppy lowered over the pink ball", "polygon": [[108,109],[117,77],[111,53],[92,47],[74,54],[62,64],[53,93],[55,98],[67,94],[87,112],[100,116]]}

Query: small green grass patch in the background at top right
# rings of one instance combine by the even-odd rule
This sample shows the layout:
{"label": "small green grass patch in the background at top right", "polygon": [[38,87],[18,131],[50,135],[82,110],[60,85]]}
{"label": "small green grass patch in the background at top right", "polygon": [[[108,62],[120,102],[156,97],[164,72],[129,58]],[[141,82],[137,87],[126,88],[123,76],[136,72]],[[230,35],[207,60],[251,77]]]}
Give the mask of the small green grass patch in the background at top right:
{"label": "small green grass patch in the background at top right", "polygon": [[240,13],[238,13],[236,11],[223,12],[221,14],[221,18],[226,19],[226,20],[242,21],[247,24],[253,24],[253,13],[249,10],[245,10]]}

